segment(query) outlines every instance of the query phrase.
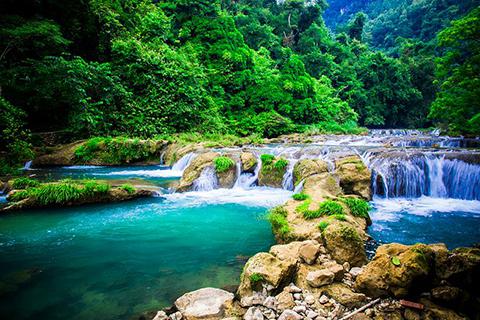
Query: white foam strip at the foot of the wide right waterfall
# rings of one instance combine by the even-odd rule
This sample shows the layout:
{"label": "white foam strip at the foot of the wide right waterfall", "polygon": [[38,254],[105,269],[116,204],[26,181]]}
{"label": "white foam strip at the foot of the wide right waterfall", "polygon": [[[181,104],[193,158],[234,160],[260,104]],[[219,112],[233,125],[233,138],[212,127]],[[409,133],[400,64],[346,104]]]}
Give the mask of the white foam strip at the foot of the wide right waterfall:
{"label": "white foam strip at the foot of the wide right waterfall", "polygon": [[434,216],[435,212],[465,212],[480,216],[480,201],[461,200],[452,198],[420,197],[407,198],[380,198],[373,199],[374,210],[370,215],[373,221],[398,221],[400,213],[419,216]]}

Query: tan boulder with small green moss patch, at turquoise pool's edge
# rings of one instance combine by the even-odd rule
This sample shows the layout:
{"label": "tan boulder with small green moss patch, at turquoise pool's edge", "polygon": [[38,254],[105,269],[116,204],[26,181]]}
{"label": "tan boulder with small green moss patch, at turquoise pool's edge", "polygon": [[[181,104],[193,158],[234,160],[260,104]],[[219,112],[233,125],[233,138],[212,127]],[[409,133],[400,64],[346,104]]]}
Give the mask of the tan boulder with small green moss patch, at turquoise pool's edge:
{"label": "tan boulder with small green moss patch, at turquoise pool's edge", "polygon": [[270,286],[273,293],[280,292],[292,279],[296,264],[295,259],[280,260],[270,253],[257,253],[243,268],[239,296],[251,296],[254,291],[261,291],[264,285]]}

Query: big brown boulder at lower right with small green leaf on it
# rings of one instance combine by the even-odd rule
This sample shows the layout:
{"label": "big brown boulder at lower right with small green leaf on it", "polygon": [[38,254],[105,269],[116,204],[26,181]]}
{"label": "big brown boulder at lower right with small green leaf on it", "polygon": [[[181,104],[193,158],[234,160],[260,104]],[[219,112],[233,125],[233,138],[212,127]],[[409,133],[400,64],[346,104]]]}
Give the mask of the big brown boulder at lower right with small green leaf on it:
{"label": "big brown boulder at lower right with small green leaf on it", "polygon": [[386,244],[357,276],[355,288],[371,297],[405,297],[425,290],[433,262],[433,250],[427,245]]}

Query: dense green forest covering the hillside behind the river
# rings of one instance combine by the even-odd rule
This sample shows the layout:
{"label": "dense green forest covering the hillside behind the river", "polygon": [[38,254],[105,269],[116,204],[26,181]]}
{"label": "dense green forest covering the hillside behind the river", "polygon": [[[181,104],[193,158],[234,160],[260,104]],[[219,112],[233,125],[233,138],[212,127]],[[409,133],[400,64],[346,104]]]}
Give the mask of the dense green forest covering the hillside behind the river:
{"label": "dense green forest covering the hillside behind the river", "polygon": [[480,0],[3,0],[3,166],[32,132],[480,133]]}

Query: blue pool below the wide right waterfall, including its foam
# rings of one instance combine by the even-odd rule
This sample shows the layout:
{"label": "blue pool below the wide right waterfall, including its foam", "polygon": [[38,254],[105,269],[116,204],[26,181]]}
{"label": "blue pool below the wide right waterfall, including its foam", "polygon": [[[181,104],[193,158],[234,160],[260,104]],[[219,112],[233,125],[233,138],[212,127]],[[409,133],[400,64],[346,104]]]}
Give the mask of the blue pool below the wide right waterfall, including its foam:
{"label": "blue pool below the wide right waterfall, including its foam", "polygon": [[445,243],[449,249],[480,243],[480,201],[421,197],[373,201],[368,233],[378,243]]}

